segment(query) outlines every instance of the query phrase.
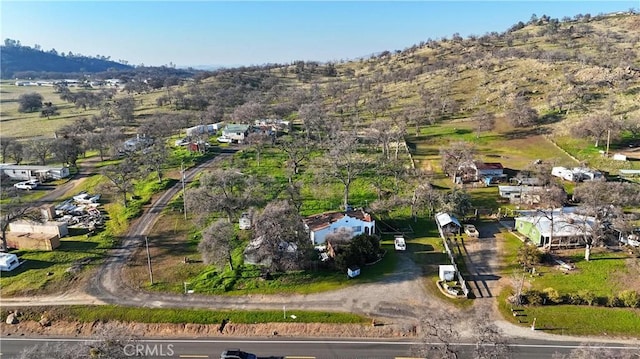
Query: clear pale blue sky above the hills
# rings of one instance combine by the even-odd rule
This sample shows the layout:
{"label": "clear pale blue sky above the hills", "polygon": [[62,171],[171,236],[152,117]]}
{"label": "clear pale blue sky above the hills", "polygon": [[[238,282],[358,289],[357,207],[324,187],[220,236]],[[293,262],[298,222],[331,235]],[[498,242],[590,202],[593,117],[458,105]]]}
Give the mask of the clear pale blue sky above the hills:
{"label": "clear pale blue sky above the hills", "polygon": [[349,60],[428,38],[503,32],[532,14],[640,10],[633,1],[0,2],[2,39],[133,65]]}

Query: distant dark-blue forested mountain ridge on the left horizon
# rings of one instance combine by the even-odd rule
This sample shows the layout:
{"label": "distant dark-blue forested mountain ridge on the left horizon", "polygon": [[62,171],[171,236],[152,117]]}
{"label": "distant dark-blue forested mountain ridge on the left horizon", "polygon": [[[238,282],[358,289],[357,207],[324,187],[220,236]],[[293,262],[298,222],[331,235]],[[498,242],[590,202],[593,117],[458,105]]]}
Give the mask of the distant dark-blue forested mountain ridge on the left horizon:
{"label": "distant dark-blue forested mountain ridge on the left horizon", "polygon": [[[0,77],[3,79],[38,77],[42,74],[80,74],[131,70],[134,67],[108,58],[67,54],[55,50],[42,51],[5,41],[0,46]],[[47,76],[50,77],[50,76]]]}

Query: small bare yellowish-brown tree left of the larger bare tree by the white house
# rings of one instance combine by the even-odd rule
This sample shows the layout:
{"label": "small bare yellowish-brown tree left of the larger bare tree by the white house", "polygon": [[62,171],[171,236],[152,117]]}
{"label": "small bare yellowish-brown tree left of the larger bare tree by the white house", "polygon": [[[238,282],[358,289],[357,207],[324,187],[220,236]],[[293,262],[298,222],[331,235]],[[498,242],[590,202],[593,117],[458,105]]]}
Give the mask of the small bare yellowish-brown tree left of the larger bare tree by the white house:
{"label": "small bare yellowish-brown tree left of the larger bare tree by the white house", "polygon": [[223,267],[226,263],[233,270],[231,251],[234,246],[235,234],[233,225],[229,221],[219,219],[202,231],[202,240],[198,243],[198,252],[205,264],[215,264]]}

